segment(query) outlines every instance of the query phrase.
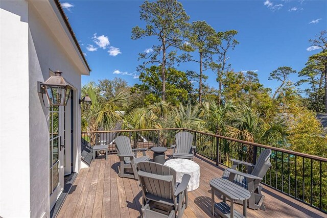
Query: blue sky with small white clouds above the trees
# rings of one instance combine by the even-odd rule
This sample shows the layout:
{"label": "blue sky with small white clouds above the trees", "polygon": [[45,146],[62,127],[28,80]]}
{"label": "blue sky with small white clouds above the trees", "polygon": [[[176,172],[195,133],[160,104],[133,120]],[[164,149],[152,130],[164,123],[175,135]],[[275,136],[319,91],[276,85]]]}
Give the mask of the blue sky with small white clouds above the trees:
{"label": "blue sky with small white clouds above the trees", "polygon": [[[237,30],[240,42],[228,54],[236,71],[253,70],[260,82],[273,90],[269,73],[279,66],[301,70],[308,57],[319,50],[309,49],[308,40],[327,29],[327,1],[180,1],[190,21],[205,20],[216,31]],[[86,59],[92,69],[82,77],[89,81],[121,77],[130,85],[138,83],[138,53],[157,44],[155,37],[132,40],[131,29],[144,27],[139,19],[143,1],[61,1]],[[309,51],[308,51],[309,50]],[[176,66],[196,70],[195,63]],[[207,84],[217,87],[216,76],[205,71]],[[297,75],[291,77],[293,82]]]}

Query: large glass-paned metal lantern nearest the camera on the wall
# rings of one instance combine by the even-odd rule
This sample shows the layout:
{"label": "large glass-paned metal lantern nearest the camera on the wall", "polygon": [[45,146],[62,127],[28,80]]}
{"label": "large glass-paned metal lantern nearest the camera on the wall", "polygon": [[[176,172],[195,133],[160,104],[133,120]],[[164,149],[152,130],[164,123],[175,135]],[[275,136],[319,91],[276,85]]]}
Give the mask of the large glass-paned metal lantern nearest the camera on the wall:
{"label": "large glass-paned metal lantern nearest the camera on the wall", "polygon": [[38,92],[42,93],[42,99],[43,94],[46,94],[49,106],[66,106],[72,86],[61,76],[62,72],[54,73],[55,76],[50,76],[44,83],[38,82]]}

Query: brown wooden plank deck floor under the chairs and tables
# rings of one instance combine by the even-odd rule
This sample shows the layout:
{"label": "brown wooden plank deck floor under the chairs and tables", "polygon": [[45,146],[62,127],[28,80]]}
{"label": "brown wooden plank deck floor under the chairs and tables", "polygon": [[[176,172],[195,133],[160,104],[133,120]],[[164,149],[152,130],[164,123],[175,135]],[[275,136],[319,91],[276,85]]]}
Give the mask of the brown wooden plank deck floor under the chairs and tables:
{"label": "brown wooden plank deck floor under the chairs and tables", "polygon": [[[171,151],[168,152],[171,157]],[[152,152],[148,152],[152,157]],[[141,217],[142,192],[138,181],[120,178],[118,156],[96,159],[89,168],[81,169],[57,217]],[[213,217],[209,180],[221,177],[224,168],[196,155],[200,165],[200,187],[189,192],[185,218]],[[264,186],[266,211],[247,209],[248,217],[326,217],[326,214]],[[216,203],[219,202],[216,197]],[[241,205],[236,210],[242,211]],[[215,213],[215,217],[218,214]]]}

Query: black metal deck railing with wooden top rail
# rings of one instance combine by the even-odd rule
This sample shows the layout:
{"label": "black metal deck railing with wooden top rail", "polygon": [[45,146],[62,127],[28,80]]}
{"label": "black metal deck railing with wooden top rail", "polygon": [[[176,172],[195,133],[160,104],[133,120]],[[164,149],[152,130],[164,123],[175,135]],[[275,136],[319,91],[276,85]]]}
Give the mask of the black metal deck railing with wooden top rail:
{"label": "black metal deck railing with wooden top rail", "polygon": [[[227,167],[231,158],[255,164],[264,149],[271,149],[272,167],[262,183],[327,213],[326,158],[183,128],[82,132],[82,138],[90,147],[108,144],[108,152],[115,153],[114,139],[118,135],[130,137],[133,148],[149,149],[170,147],[178,131],[192,132],[196,153]],[[245,168],[239,166],[239,170]]]}

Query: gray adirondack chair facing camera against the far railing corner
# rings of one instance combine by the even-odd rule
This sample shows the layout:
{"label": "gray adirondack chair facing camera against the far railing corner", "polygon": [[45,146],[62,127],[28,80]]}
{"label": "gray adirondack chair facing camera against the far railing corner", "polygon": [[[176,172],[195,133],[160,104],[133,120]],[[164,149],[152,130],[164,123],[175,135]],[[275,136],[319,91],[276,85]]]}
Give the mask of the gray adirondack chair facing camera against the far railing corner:
{"label": "gray adirondack chair facing camera against the far railing corner", "polygon": [[185,158],[193,160],[193,134],[189,132],[179,132],[175,135],[176,144],[173,144],[173,158]]}

